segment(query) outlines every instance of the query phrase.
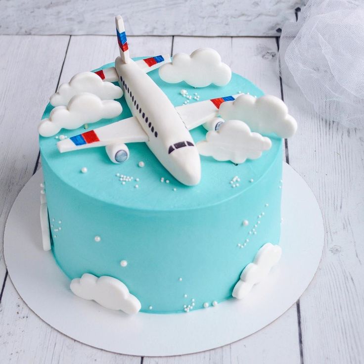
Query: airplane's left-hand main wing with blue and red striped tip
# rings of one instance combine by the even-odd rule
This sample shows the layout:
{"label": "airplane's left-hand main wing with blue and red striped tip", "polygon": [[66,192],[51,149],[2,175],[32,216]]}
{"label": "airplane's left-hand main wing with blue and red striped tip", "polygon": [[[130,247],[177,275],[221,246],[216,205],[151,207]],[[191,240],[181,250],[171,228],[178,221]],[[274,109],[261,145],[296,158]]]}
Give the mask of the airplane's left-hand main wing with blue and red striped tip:
{"label": "airplane's left-hand main wing with blue and red striped tip", "polygon": [[106,146],[114,143],[148,141],[149,137],[141,128],[136,117],[123,119],[115,123],[96,128],[88,132],[58,141],[58,150],[69,152],[76,149]]}

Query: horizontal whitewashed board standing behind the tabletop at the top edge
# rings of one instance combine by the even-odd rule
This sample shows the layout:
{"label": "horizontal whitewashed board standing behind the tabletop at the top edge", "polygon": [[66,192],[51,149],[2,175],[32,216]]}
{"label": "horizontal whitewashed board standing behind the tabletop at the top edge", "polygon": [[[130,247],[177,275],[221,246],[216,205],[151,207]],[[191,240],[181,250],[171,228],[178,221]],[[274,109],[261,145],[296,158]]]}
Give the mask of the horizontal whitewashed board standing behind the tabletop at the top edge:
{"label": "horizontal whitewashed board standing behind the tabletop at the top edge", "polygon": [[129,35],[276,36],[303,0],[0,1],[1,34],[115,34],[113,17]]}

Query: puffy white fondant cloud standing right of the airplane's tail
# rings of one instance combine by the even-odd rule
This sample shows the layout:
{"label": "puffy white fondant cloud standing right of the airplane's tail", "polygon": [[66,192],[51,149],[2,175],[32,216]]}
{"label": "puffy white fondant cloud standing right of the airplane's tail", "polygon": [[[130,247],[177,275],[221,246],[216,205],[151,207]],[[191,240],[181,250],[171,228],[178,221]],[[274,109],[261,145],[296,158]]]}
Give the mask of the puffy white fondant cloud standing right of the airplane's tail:
{"label": "puffy white fondant cloud standing right of the airplane's tail", "polygon": [[175,54],[172,62],[159,68],[159,76],[170,84],[184,81],[193,87],[225,86],[231,79],[231,69],[215,49],[198,48],[191,55]]}

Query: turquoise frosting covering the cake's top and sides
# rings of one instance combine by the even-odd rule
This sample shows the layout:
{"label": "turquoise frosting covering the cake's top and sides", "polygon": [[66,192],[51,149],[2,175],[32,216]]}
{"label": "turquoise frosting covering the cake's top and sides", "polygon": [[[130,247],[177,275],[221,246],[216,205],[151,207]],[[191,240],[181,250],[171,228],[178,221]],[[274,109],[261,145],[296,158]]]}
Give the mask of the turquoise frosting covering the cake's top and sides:
{"label": "turquoise frosting covering the cake's top and sides", "polygon": [[[237,74],[225,87],[203,89],[167,84],[157,70],[149,75],[175,106],[186,100],[181,89],[192,97],[197,92],[200,100],[239,91],[263,95]],[[123,106],[121,116],[91,124],[89,130],[132,116],[124,98],[118,101]],[[51,109],[48,104],[43,118]],[[83,132],[83,128],[63,129],[57,136]],[[197,142],[205,138],[206,130],[199,127],[191,135]],[[201,182],[193,187],[175,180],[145,143],[128,144],[129,160],[117,165],[103,147],[61,154],[55,137],[40,137],[57,263],[71,279],[83,273],[120,279],[139,299],[143,312],[183,312],[192,299],[197,309],[205,302],[211,305],[230,298],[241,271],[259,248],[279,242],[282,141],[270,137],[269,151],[237,166],[201,157]],[[82,167],[88,172],[81,173]],[[117,174],[134,180],[123,185]],[[232,188],[234,176],[240,182]],[[243,220],[249,225],[244,226]],[[95,236],[101,240],[96,242]],[[121,260],[128,265],[121,267]]]}

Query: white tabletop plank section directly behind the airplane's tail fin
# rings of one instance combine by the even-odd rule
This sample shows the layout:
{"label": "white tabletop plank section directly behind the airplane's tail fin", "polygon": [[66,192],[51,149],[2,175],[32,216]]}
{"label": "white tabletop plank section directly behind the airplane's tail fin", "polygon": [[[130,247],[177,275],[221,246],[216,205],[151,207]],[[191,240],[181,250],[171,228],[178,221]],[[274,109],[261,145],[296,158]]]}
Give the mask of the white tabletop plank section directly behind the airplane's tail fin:
{"label": "white tabletop plank section directly behind the airplane's tail fin", "polygon": [[[172,37],[128,37],[131,57],[171,53]],[[76,73],[91,71],[113,62],[119,55],[116,36],[71,37],[60,83]]]}

